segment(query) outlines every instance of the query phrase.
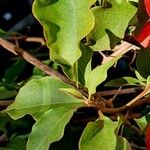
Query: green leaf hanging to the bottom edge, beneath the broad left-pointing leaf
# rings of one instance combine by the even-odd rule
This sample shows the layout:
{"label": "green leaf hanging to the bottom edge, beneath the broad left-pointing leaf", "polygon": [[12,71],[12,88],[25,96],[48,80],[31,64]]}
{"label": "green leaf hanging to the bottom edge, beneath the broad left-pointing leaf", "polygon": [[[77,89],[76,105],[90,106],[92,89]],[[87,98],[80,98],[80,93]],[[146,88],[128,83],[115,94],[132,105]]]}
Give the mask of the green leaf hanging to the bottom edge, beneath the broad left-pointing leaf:
{"label": "green leaf hanging to the bottom edge, beneath the broad left-pointing leaf", "polygon": [[75,105],[59,106],[47,111],[33,126],[27,143],[28,150],[48,150],[49,144],[58,141],[66,123],[75,111]]}

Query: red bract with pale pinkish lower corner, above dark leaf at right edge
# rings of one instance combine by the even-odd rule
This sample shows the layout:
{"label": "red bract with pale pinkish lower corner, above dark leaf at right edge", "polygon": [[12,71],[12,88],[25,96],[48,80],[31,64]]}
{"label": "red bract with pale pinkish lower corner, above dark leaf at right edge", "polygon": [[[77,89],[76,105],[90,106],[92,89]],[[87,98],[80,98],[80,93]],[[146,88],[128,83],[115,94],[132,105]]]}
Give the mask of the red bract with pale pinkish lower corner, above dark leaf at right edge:
{"label": "red bract with pale pinkish lower corner, above dark leaf at right edge", "polygon": [[150,21],[148,21],[134,38],[143,46],[150,46]]}

